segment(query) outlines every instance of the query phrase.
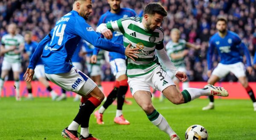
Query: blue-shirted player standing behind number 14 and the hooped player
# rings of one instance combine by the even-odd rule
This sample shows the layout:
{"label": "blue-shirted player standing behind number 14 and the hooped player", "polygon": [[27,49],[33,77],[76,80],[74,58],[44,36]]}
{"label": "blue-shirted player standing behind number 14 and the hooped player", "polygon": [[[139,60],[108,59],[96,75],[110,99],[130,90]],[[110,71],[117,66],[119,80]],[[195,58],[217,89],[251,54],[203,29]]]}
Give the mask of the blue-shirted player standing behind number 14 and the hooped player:
{"label": "blue-shirted player standing behind number 14 and the hooped player", "polygon": [[[130,8],[121,8],[120,7],[121,0],[108,0],[108,4],[110,6],[110,10],[103,14],[98,22],[98,26],[102,23],[108,23],[111,21],[116,21],[125,17],[135,17],[136,12]],[[103,35],[102,35],[103,36]],[[136,36],[136,35],[135,35]],[[118,31],[113,32],[113,38],[110,39],[111,42],[116,42],[119,44],[123,44],[123,35]],[[99,52],[99,48],[95,48],[93,51],[93,56],[91,57],[92,62],[96,61],[96,55]],[[114,122],[121,125],[128,125],[130,122],[126,120],[122,114],[122,106],[125,101],[125,93],[128,90],[127,76],[126,72],[126,64],[125,64],[125,55],[116,52],[109,53],[111,71],[114,76],[116,76],[116,81],[114,84],[113,90],[107,97],[105,103],[94,112],[96,116],[98,124],[104,124],[102,118],[105,110],[110,106],[113,101],[117,98],[117,109],[116,116],[114,118]]]}

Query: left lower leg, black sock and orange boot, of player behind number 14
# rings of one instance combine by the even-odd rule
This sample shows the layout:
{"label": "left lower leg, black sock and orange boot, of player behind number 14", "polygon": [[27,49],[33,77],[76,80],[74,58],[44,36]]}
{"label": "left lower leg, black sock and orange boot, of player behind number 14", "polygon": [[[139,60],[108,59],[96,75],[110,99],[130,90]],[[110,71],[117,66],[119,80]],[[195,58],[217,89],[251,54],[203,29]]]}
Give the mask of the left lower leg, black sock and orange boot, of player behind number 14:
{"label": "left lower leg, black sock and orange boot, of player behind number 14", "polygon": [[105,103],[99,108],[99,110],[96,110],[96,112],[94,112],[94,116],[96,117],[96,121],[98,124],[104,124],[103,113],[108,108],[108,106],[110,106],[113,103],[113,101],[116,99],[118,89],[119,89],[119,81],[115,81],[114,88],[109,93]]}

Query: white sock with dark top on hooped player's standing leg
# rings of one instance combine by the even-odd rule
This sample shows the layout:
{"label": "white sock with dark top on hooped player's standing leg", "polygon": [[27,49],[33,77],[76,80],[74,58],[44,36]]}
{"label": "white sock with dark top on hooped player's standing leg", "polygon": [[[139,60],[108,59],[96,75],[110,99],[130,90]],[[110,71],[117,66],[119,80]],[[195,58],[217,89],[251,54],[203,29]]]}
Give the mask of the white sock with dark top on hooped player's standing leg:
{"label": "white sock with dark top on hooped player's standing leg", "polygon": [[157,126],[163,132],[166,132],[169,136],[176,134],[172,130],[172,128],[169,126],[166,119],[160,113],[158,113],[156,109],[154,109],[154,111],[147,116],[148,116],[148,119],[151,121],[151,123],[153,123],[155,126]]}

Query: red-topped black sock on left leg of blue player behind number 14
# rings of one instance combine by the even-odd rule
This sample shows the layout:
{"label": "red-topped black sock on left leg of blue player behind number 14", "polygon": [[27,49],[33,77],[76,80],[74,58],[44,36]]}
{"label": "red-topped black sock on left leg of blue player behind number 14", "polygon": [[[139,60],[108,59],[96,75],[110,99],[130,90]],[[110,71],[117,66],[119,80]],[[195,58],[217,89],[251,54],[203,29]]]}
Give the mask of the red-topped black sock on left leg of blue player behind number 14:
{"label": "red-topped black sock on left leg of blue player behind number 14", "polygon": [[118,89],[119,89],[119,81],[115,81],[114,89],[109,93],[109,95],[107,97],[107,100],[103,104],[103,107],[105,109],[107,109],[108,106],[110,106],[113,103],[113,101],[116,99],[116,95],[117,95]]}

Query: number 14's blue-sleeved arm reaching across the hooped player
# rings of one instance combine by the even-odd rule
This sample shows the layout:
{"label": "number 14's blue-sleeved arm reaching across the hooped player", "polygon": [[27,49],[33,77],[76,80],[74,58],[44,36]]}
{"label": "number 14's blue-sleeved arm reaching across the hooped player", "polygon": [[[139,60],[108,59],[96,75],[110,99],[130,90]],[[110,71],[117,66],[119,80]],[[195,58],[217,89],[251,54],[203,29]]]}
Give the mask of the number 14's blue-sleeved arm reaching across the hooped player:
{"label": "number 14's blue-sleeved arm reaching across the hooped player", "polygon": [[137,55],[134,55],[134,53],[139,53],[136,51],[138,50],[138,48],[131,49],[130,48],[131,44],[128,47],[124,48],[124,46],[121,44],[110,42],[98,36],[96,32],[90,27],[90,25],[88,25],[85,22],[81,22],[81,23],[76,22],[75,24],[76,24],[75,25],[76,34],[81,36],[82,39],[86,40],[87,42],[92,44],[94,47],[101,48],[103,50],[107,50],[111,52],[125,54],[132,60],[134,60],[133,57],[135,58],[138,57]]}

